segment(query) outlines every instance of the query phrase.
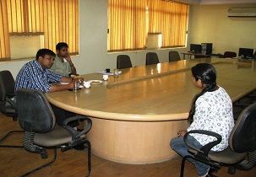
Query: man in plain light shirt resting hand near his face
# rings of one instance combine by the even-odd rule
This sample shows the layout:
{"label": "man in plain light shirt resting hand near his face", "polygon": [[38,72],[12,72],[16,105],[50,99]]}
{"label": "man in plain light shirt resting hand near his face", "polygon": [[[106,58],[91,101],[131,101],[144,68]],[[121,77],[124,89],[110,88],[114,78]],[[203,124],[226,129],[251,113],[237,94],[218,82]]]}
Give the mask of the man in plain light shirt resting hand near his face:
{"label": "man in plain light shirt resting hand near his face", "polygon": [[74,63],[68,54],[68,44],[65,42],[59,42],[56,45],[57,56],[55,62],[51,67],[52,72],[56,72],[63,76],[68,76],[69,73],[76,74]]}

